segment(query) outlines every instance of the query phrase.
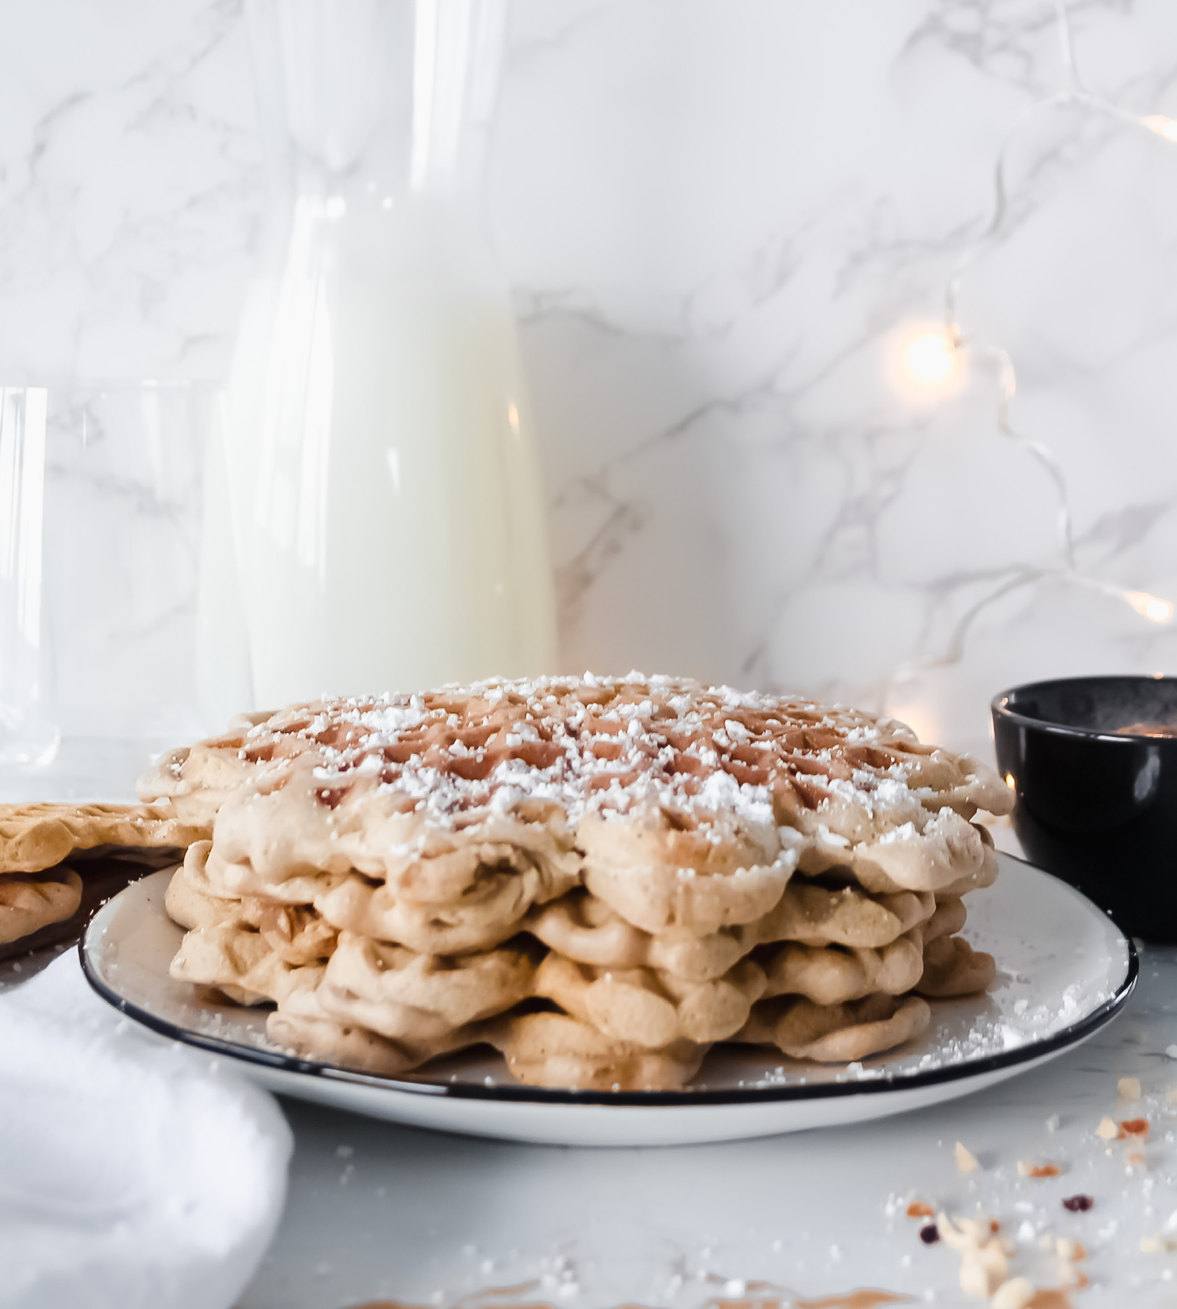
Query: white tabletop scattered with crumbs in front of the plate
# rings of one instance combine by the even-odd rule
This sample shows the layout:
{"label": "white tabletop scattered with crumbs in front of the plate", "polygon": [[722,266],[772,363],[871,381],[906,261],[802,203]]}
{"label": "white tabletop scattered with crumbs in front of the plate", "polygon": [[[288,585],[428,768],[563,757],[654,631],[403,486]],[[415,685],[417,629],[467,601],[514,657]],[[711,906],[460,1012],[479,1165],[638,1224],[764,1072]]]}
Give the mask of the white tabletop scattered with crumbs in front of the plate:
{"label": "white tabletop scattered with crumbs in front of the plate", "polygon": [[[762,1279],[797,1296],[882,1287],[915,1305],[981,1305],[960,1291],[960,1259],[919,1241],[903,1216],[919,1199],[949,1213],[979,1206],[1013,1245],[1011,1274],[1058,1285],[1043,1236],[1089,1254],[1074,1309],[1170,1309],[1177,1255],[1148,1254],[1177,1210],[1177,952],[1147,952],[1123,1017],[1081,1049],[1002,1086],[875,1123],[725,1145],[576,1151],[397,1127],[285,1101],[297,1147],[291,1200],[241,1309],[344,1309],[390,1297],[480,1309],[511,1305],[702,1309]],[[1117,1100],[1138,1076],[1144,1098]],[[1095,1135],[1105,1115],[1143,1115],[1147,1166]],[[1055,1121],[1051,1130],[1051,1121]],[[981,1172],[961,1174],[964,1141]],[[1020,1160],[1055,1161],[1034,1181]],[[1088,1213],[1062,1199],[1085,1192]],[[1172,1230],[1172,1228],[1170,1228]],[[1055,1306],[1060,1309],[1060,1306]]]}

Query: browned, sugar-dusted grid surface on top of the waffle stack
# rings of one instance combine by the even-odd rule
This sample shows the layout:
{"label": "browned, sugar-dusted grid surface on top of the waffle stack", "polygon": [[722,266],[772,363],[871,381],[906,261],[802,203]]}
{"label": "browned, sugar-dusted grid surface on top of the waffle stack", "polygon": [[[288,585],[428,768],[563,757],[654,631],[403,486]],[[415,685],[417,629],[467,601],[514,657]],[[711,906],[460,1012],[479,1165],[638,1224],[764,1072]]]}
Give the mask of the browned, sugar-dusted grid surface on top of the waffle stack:
{"label": "browned, sugar-dusted grid surface on top of the waffle stack", "polygon": [[[693,827],[724,814],[753,827],[808,826],[837,842],[846,827],[838,816],[852,812],[902,839],[952,791],[913,785],[922,764],[966,783],[964,795],[957,785],[947,796],[965,817],[1005,792],[988,770],[920,746],[892,720],[638,673],[296,706],[251,728],[241,758],[264,764],[305,751],[317,758],[323,804],[360,778],[378,779],[443,827],[473,809],[550,801],[572,827],[587,812],[622,816],[636,805]],[[981,785],[968,785],[974,780]]]}

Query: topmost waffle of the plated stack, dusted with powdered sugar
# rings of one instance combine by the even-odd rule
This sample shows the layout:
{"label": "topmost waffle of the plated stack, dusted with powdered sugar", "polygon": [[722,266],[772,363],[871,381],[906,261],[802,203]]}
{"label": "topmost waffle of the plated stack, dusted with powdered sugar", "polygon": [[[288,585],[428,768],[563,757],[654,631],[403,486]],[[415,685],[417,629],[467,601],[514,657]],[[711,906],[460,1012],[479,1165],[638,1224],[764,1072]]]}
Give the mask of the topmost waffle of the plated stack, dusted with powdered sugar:
{"label": "topmost waffle of the plated stack, dusted with powdered sugar", "polygon": [[463,850],[503,843],[645,931],[750,922],[799,863],[868,890],[943,890],[985,873],[968,819],[1012,802],[991,770],[902,724],[636,674],[257,717],[141,784],[215,816],[226,861],[275,881],[353,869],[439,902],[477,874]]}

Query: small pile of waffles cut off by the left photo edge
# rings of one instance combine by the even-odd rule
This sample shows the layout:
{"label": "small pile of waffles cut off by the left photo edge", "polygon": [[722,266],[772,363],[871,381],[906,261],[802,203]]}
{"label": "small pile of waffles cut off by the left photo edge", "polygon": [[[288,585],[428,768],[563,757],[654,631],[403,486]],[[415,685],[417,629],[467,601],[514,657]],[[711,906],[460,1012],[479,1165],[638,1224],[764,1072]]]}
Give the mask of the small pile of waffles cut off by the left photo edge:
{"label": "small pile of waffles cut off by the left photo edge", "polygon": [[199,835],[166,802],[0,805],[0,958],[67,940],[94,893],[175,863]]}

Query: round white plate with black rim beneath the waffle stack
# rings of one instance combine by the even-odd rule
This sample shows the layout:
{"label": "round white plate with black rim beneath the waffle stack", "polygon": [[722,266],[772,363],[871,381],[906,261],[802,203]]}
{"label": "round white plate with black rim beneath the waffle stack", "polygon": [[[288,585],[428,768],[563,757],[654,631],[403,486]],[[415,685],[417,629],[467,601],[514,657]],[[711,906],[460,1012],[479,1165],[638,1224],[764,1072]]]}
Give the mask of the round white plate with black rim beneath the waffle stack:
{"label": "round white plate with black rim beneath the waffle stack", "polygon": [[1123,1007],[1136,954],[1087,898],[1002,857],[991,890],[969,898],[968,937],[998,959],[981,997],[936,1001],[919,1039],[863,1066],[803,1064],[763,1047],[717,1046],[681,1092],[600,1093],[516,1085],[483,1049],[426,1073],[373,1077],[291,1058],[266,1041],[266,1013],[202,1001],[168,977],[182,932],[164,911],[169,874],[106,903],[81,942],[94,990],[128,1017],[240,1063],[287,1096],[443,1131],[567,1145],[672,1145],[856,1123],[935,1105],[1036,1068],[1085,1041]]}

